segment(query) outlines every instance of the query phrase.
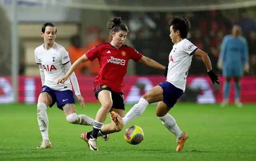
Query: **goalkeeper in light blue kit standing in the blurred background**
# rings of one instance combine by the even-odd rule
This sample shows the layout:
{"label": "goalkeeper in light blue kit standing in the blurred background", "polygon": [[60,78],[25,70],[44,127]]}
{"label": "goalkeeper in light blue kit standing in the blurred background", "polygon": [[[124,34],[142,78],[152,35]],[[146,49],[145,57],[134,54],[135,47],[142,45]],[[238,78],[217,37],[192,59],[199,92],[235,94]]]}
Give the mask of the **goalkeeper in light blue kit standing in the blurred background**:
{"label": "goalkeeper in light blue kit standing in the blurred background", "polygon": [[242,107],[242,103],[240,102],[240,78],[243,76],[244,71],[249,72],[249,55],[247,41],[241,36],[241,33],[241,28],[234,26],[232,34],[226,35],[222,41],[217,65],[218,68],[222,70],[223,77],[225,77],[222,107],[228,104],[230,81],[232,77],[234,77],[236,89],[235,104],[239,108]]}

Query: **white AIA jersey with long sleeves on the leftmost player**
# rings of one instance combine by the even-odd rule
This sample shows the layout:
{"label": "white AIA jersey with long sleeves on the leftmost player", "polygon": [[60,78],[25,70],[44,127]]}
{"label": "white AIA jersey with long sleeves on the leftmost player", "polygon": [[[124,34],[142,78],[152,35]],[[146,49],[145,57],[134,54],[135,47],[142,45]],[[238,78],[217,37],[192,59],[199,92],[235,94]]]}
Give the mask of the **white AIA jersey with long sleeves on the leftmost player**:
{"label": "white AIA jersey with long sleeves on the leftmost player", "polygon": [[70,83],[71,79],[75,94],[80,94],[78,82],[74,73],[70,75],[70,79],[64,84],[57,84],[58,79],[64,76],[67,70],[71,67],[68,52],[64,47],[58,43],[54,43],[52,48],[46,50],[44,49],[44,44],[40,45],[35,49],[35,59],[36,63],[40,65],[40,75],[43,86],[48,86],[54,90],[72,90],[72,85]]}

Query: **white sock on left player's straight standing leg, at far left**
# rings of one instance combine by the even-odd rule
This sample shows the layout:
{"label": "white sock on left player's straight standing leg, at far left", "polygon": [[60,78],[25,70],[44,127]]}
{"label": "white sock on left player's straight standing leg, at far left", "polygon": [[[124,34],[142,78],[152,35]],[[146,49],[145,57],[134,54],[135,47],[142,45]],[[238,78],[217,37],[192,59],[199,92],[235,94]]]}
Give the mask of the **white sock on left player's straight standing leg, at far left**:
{"label": "white sock on left player's straight standing leg, at far left", "polygon": [[49,121],[48,121],[48,117],[46,114],[46,109],[47,109],[46,104],[44,104],[42,102],[38,102],[38,104],[37,104],[37,120],[38,120],[38,125],[39,125],[39,129],[41,131],[43,140],[45,140],[45,139],[49,140],[49,135],[48,135]]}

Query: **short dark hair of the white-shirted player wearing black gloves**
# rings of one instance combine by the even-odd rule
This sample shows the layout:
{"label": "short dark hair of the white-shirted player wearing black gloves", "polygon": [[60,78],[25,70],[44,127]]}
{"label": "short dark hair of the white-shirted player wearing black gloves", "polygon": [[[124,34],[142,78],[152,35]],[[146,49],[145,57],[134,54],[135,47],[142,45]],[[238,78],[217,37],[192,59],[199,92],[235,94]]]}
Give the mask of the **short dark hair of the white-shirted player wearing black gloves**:
{"label": "short dark hair of the white-shirted player wearing black gloves", "polygon": [[169,25],[172,26],[172,29],[174,32],[177,30],[180,31],[180,37],[185,39],[188,36],[188,32],[190,30],[190,22],[187,18],[182,17],[172,17],[172,19],[169,21]]}

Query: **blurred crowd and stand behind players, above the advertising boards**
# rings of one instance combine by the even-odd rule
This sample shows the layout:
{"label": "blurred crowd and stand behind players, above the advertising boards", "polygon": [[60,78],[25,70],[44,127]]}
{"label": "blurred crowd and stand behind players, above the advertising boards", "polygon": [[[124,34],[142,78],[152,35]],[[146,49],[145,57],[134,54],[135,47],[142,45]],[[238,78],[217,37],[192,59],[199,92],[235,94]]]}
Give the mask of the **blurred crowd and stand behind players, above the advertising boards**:
{"label": "blurred crowd and stand behind players, above the advertising boards", "polygon": [[[40,32],[46,22],[56,25],[56,42],[66,48],[74,63],[95,45],[110,41],[106,24],[114,17],[121,17],[129,28],[126,44],[142,55],[166,65],[173,46],[168,22],[172,16],[182,15],[191,23],[188,39],[208,53],[214,71],[220,76],[222,71],[217,68],[217,62],[223,37],[231,34],[234,25],[240,26],[249,49],[250,71],[244,74],[250,77],[256,75],[256,2],[251,0],[16,0],[15,10],[13,2],[14,0],[0,0],[0,76],[11,76],[15,65],[11,59],[12,40],[15,38],[11,29],[14,21],[17,21],[18,29],[18,53],[15,57],[19,64],[18,74],[38,77],[34,49],[44,43]],[[84,63],[75,72],[77,76],[95,77],[99,66],[96,59]],[[129,61],[126,75],[156,76],[157,79],[162,74],[163,71]],[[202,59],[193,57],[189,76],[206,75]],[[242,84],[246,86],[248,82],[242,81]],[[254,89],[254,86],[251,82],[248,89]],[[138,84],[137,87],[140,88]],[[220,87],[215,87],[214,91],[220,90]],[[142,86],[143,88],[145,87]],[[200,92],[202,90],[198,90],[193,99]],[[189,88],[187,94],[187,98],[192,98]]]}

